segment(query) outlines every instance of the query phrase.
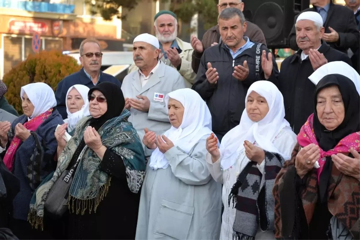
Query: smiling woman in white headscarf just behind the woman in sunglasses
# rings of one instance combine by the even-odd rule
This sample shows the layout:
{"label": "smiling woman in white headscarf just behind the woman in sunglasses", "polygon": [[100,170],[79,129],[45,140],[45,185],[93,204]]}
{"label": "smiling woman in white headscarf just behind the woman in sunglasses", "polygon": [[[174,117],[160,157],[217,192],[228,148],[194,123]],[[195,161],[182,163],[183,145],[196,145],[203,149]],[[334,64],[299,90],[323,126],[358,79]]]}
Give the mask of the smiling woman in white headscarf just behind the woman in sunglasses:
{"label": "smiling woman in white headscarf just behind the woman in sunglasses", "polygon": [[76,84],[69,88],[66,93],[66,112],[68,118],[64,119],[67,123],[69,134],[75,130],[76,123],[83,117],[90,116],[89,100],[87,100],[87,93],[89,87],[81,84]]}

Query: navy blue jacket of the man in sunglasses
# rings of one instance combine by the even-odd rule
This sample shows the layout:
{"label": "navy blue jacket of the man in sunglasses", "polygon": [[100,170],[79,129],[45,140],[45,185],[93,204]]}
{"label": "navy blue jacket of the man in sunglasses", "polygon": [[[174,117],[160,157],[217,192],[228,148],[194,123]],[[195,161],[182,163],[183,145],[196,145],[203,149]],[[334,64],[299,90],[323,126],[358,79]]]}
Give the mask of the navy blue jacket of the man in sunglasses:
{"label": "navy blue jacket of the man in sunglasses", "polygon": [[[110,74],[103,73],[102,71],[100,71],[100,79],[98,84],[100,82],[112,82],[121,87],[121,82],[119,80],[117,80],[114,76],[111,76]],[[58,83],[58,87],[55,92],[55,98],[58,103],[57,109],[63,119],[67,118],[66,93],[69,88],[71,86],[74,86],[75,84],[82,84],[89,88],[94,87],[93,81],[91,81],[91,79],[86,76],[84,68],[81,68],[80,71],[67,76]],[[84,99],[84,101],[87,101],[87,99]]]}

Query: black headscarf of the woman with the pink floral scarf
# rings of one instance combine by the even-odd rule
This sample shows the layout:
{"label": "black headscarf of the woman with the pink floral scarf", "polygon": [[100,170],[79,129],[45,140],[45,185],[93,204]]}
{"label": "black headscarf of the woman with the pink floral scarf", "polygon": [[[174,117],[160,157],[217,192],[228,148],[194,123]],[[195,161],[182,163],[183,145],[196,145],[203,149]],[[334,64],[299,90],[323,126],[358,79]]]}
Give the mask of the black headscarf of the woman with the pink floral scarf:
{"label": "black headscarf of the woman with the pink floral scarf", "polygon": [[[332,131],[327,130],[319,121],[316,104],[318,94],[325,87],[337,86],[342,96],[345,108],[345,117],[342,123]],[[340,74],[329,74],[323,77],[316,85],[314,94],[314,120],[313,128],[316,140],[324,151],[333,149],[340,140],[351,133],[360,131],[360,96],[354,82]],[[320,199],[326,199],[328,181],[331,175],[332,159],[327,157],[323,171],[320,174]]]}

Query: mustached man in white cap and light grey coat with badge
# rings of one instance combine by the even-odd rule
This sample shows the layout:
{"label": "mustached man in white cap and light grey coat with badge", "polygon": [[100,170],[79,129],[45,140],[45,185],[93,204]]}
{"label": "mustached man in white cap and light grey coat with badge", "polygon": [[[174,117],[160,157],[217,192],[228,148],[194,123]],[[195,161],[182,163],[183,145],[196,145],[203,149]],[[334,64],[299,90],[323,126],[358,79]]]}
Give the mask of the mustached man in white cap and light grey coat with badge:
{"label": "mustached man in white cap and light grey coat with badge", "polygon": [[129,122],[140,139],[145,128],[162,134],[170,127],[164,98],[169,92],[185,88],[180,73],[159,60],[159,41],[148,33],[135,37],[133,58],[138,70],[127,74],[121,90],[125,108],[131,113]]}

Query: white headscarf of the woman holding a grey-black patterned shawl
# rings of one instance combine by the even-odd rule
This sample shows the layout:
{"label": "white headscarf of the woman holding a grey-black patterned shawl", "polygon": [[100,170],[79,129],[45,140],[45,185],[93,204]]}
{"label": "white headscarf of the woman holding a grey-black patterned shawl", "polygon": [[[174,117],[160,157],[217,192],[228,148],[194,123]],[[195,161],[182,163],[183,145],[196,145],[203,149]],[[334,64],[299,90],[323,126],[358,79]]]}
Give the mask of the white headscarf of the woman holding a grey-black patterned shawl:
{"label": "white headscarf of the woman holding a grey-black patterned shawl", "polygon": [[279,153],[284,158],[290,157],[280,153],[273,144],[275,137],[284,127],[291,129],[288,121],[284,119],[283,95],[273,83],[257,81],[249,87],[245,104],[252,91],[257,92],[257,94],[266,99],[269,105],[269,112],[260,121],[253,122],[248,117],[246,109],[244,109],[239,125],[226,133],[221,141],[220,153],[222,159],[220,165],[224,170],[233,166],[238,156],[244,151],[243,144],[245,140],[252,144],[256,142],[260,148],[272,153]]}

